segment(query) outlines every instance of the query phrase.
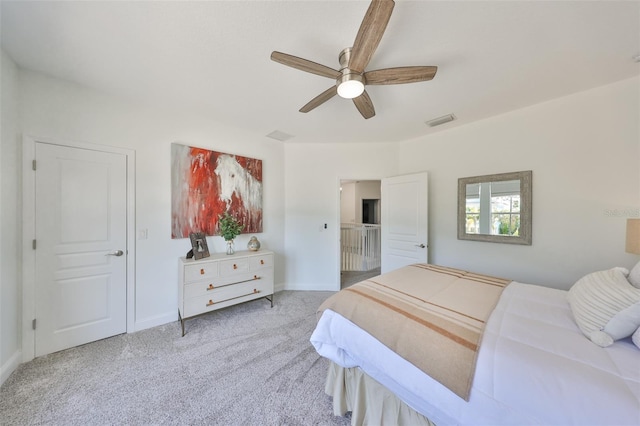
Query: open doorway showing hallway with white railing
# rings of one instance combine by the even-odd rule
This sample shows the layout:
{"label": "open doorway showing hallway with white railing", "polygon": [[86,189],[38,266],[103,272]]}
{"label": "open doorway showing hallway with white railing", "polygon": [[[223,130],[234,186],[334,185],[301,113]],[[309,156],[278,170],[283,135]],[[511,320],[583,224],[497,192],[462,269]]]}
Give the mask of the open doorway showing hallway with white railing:
{"label": "open doorway showing hallway with white railing", "polygon": [[381,181],[340,181],[340,288],[380,275]]}

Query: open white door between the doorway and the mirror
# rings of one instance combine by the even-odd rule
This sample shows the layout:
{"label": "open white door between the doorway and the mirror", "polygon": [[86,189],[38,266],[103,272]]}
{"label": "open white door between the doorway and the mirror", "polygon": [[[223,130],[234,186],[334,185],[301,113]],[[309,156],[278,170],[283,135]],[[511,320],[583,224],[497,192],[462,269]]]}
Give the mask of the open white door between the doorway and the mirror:
{"label": "open white door between the doorway and the mirror", "polygon": [[428,258],[427,173],[382,180],[381,272]]}

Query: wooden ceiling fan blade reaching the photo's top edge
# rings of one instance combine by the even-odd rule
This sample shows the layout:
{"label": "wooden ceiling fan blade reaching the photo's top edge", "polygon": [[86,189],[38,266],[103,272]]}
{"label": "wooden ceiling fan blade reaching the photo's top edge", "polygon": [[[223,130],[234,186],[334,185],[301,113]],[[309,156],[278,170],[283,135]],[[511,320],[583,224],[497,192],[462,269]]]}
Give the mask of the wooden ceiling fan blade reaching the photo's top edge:
{"label": "wooden ceiling fan blade reaching the photo's top edge", "polygon": [[393,0],[373,0],[364,15],[351,49],[349,68],[362,73],[376,51],[395,3]]}

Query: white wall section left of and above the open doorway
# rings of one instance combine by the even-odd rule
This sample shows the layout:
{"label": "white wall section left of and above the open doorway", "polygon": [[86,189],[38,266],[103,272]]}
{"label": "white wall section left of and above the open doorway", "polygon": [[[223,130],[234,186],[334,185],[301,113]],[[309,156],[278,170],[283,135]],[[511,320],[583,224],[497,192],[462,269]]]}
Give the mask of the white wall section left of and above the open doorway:
{"label": "white wall section left of and above the open doorway", "polygon": [[340,288],[340,179],[394,176],[396,157],[395,144],[285,145],[286,288]]}

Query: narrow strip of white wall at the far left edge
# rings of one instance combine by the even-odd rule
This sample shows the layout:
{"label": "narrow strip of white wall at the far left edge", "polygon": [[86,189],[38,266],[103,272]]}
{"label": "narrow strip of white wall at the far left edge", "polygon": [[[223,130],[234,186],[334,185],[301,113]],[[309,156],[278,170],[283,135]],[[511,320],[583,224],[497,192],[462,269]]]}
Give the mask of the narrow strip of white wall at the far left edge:
{"label": "narrow strip of white wall at the far left edge", "polygon": [[21,362],[20,162],[16,64],[0,51],[0,383]]}

